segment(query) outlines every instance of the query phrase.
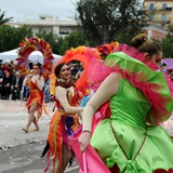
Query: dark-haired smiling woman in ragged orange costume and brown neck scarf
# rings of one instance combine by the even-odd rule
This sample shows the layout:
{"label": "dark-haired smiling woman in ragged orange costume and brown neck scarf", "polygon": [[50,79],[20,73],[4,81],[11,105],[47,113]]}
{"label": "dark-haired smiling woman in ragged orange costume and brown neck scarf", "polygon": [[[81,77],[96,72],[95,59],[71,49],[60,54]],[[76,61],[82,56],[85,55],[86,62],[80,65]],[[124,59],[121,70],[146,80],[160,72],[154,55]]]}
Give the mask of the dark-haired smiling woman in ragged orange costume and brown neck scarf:
{"label": "dark-haired smiling woman in ragged orange costume and brown neck scarf", "polygon": [[[41,157],[46,152],[48,156],[52,154],[53,173],[63,173],[72,159],[68,136],[77,131],[80,125],[79,114],[83,108],[79,105],[82,94],[71,81],[71,71],[66,63],[57,64],[54,75],[52,79],[57,79],[55,83],[56,111],[50,122],[48,143]],[[57,167],[56,159],[58,159]],[[48,169],[49,165],[44,172]]]}

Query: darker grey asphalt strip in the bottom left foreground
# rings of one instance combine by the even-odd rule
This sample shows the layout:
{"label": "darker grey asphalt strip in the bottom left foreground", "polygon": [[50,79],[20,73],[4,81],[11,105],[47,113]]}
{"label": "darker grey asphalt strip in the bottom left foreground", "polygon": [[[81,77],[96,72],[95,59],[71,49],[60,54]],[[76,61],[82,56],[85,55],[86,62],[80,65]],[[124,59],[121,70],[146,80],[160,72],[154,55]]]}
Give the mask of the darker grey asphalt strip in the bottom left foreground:
{"label": "darker grey asphalt strip in the bottom left foreground", "polygon": [[[0,173],[43,173],[46,158],[40,158],[43,142],[30,142],[6,150],[0,150]],[[78,164],[74,162],[66,173],[78,173]],[[51,173],[52,167],[50,167]]]}

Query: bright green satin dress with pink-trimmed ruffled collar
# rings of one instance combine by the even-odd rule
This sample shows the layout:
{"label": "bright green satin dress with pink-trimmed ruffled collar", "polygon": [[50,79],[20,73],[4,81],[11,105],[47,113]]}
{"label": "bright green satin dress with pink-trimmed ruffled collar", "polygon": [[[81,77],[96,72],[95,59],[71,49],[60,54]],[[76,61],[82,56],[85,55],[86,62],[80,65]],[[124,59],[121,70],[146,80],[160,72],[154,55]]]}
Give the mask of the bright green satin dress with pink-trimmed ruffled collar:
{"label": "bright green satin dress with pink-trimmed ruffled collar", "polygon": [[122,79],[109,101],[111,114],[96,125],[91,145],[107,168],[117,164],[121,173],[171,171],[173,142],[159,125],[173,109],[164,76],[123,52],[109,54],[104,64],[105,77],[117,71]]}

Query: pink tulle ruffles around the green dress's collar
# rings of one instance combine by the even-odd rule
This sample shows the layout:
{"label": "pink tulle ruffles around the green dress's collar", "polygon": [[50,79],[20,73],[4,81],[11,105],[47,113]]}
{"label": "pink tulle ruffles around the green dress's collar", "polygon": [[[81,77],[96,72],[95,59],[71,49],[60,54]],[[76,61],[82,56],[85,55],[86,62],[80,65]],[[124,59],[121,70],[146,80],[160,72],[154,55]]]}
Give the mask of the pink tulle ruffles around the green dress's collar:
{"label": "pink tulle ruffles around the green dress's collar", "polygon": [[[138,59],[152,70],[159,70],[159,68],[151,61],[146,61],[143,54],[134,48],[128,46],[127,44],[120,44],[119,49],[115,50],[115,52],[119,51],[124,52],[125,54],[135,59]],[[162,122],[169,118],[169,112],[167,110],[167,98],[157,92],[162,88],[162,85],[147,82],[146,77],[143,72],[132,74],[130,69],[121,70],[118,65],[115,65],[114,67],[108,67],[104,65],[103,62],[93,58],[92,66],[89,68],[89,83],[91,88],[94,91],[96,91],[101,83],[105,80],[105,78],[111,72],[121,74],[122,78],[128,79],[135,88],[139,89],[148,98],[149,103],[151,104],[151,110],[149,115],[151,115],[154,118],[154,122],[151,122],[150,116],[147,116],[147,121],[149,123],[158,124],[159,122]],[[168,81],[171,94],[173,96],[173,82],[169,80],[167,76],[165,79]],[[103,105],[103,107],[105,105]],[[102,117],[102,119],[104,118]],[[97,119],[95,119],[94,121],[97,122]]]}

